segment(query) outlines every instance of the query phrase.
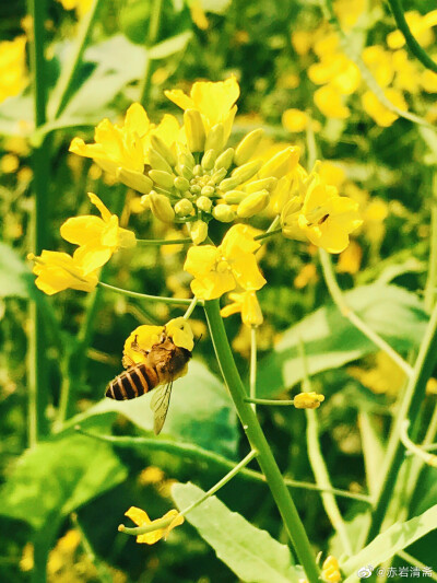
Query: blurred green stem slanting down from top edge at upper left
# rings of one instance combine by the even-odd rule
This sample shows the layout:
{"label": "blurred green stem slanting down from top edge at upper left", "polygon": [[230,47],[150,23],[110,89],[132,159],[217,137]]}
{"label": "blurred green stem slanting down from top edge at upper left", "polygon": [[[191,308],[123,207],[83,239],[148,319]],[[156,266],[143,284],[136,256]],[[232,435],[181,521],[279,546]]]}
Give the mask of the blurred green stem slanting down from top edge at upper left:
{"label": "blurred green stem slanting down from top edge at upper left", "polygon": [[50,119],[56,119],[61,115],[74,91],[78,70],[81,66],[83,53],[88,44],[94,23],[97,19],[99,7],[101,0],[94,0],[90,12],[83,16],[83,20],[80,23],[75,49],[68,63],[62,68],[61,75],[50,98]]}

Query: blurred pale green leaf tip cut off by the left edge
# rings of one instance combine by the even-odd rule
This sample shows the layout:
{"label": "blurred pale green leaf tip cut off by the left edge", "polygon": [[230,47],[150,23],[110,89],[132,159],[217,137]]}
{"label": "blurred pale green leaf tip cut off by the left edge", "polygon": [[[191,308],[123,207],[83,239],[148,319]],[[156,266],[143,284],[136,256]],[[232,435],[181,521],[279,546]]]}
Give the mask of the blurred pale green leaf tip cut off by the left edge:
{"label": "blurred pale green leaf tip cut off by the left edge", "polygon": [[0,243],[0,298],[28,298],[36,292],[33,276],[16,250]]}

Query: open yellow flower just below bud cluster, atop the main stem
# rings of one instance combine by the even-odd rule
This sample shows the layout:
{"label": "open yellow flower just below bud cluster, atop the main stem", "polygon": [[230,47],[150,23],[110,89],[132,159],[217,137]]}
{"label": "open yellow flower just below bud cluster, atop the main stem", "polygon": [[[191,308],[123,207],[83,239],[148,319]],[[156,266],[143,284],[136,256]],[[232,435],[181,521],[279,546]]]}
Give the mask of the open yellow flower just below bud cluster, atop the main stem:
{"label": "open yellow flower just below bud cluster, atop the main stem", "polygon": [[261,276],[253,252],[260,244],[249,226],[236,224],[229,229],[218,247],[201,245],[188,249],[185,271],[194,276],[191,290],[202,300],[214,300],[240,285],[246,291],[260,290]]}

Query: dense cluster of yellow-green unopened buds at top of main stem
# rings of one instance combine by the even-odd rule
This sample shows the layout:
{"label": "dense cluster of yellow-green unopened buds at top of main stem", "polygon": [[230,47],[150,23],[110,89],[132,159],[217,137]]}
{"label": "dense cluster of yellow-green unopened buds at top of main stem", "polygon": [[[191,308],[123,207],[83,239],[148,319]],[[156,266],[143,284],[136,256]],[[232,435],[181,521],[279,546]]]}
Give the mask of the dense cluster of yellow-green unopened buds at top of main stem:
{"label": "dense cluster of yellow-green unopened buds at top of main stem", "polygon": [[187,145],[174,153],[157,136],[147,155],[153,187],[142,198],[145,208],[164,222],[187,223],[194,244],[208,236],[208,223],[229,223],[263,211],[288,166],[297,163],[298,149],[287,148],[268,162],[252,160],[262,129],[248,133],[233,149],[225,143],[223,124],[205,133],[194,109],[184,115]]}

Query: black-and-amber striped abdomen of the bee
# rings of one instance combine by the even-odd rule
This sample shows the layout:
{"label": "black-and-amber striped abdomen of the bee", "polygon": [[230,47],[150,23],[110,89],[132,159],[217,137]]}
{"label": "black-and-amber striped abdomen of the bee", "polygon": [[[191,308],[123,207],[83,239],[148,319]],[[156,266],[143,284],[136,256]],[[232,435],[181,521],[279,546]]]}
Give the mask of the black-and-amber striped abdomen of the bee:
{"label": "black-and-amber striped abdomen of the bee", "polygon": [[107,386],[106,396],[116,400],[134,399],[152,390],[157,375],[145,364],[137,364],[116,376]]}

